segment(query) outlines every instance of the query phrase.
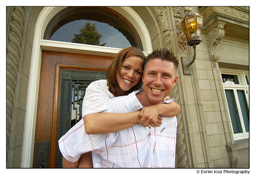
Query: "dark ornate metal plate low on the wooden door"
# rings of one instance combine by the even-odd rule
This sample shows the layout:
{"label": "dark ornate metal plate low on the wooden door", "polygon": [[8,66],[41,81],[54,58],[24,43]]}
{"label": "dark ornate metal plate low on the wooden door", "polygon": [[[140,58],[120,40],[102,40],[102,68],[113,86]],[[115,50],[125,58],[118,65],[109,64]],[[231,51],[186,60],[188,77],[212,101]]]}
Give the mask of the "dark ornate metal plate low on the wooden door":
{"label": "dark ornate metal plate low on the wooden door", "polygon": [[37,142],[36,168],[48,168],[49,142]]}

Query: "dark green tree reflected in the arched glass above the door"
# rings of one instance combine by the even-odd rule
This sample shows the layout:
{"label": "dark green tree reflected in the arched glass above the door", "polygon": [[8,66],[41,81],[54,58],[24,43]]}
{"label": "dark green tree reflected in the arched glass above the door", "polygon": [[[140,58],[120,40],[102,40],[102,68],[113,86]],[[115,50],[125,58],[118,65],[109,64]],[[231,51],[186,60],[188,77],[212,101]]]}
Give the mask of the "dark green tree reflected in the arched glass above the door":
{"label": "dark green tree reflected in the arched glass above the door", "polygon": [[99,33],[95,27],[95,23],[91,26],[89,22],[83,26],[83,28],[78,29],[79,33],[74,33],[74,38],[71,39],[72,43],[81,43],[81,44],[91,44],[91,45],[100,45],[105,46],[107,43],[100,44],[99,39],[102,37],[102,34]]}

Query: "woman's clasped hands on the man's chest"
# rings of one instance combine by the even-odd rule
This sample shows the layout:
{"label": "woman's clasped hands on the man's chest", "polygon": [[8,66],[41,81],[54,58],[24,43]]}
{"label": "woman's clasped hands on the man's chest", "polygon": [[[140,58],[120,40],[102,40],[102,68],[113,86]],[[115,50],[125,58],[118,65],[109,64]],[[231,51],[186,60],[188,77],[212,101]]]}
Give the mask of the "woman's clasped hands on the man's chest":
{"label": "woman's clasped hands on the man's chest", "polygon": [[148,125],[153,125],[153,127],[156,127],[162,124],[162,117],[159,117],[159,111],[154,107],[154,105],[142,108],[139,117],[140,121],[138,123],[143,125],[143,127]]}

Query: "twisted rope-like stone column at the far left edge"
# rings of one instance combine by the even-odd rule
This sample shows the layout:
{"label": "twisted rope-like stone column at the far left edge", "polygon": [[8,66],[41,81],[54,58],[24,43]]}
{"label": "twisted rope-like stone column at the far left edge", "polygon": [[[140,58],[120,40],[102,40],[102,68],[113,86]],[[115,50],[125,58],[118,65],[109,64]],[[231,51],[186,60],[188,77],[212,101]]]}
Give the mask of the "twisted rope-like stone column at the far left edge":
{"label": "twisted rope-like stone column at the far left edge", "polygon": [[20,60],[21,38],[25,22],[24,7],[12,7],[10,26],[7,26],[6,44],[6,160],[11,133],[11,120],[15,96],[16,77]]}

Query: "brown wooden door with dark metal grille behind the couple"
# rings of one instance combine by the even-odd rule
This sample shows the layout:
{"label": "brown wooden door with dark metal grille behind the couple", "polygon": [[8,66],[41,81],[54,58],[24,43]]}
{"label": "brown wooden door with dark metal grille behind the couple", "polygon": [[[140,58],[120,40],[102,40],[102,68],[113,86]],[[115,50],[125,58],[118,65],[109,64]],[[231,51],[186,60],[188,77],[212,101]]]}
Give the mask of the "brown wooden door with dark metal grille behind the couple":
{"label": "brown wooden door with dark metal grille behind the couple", "polygon": [[[46,167],[57,168],[59,166],[57,165],[57,162],[60,161],[58,159],[58,138],[63,135],[63,131],[60,133],[60,127],[66,127],[65,130],[67,131],[72,125],[71,118],[68,119],[70,121],[68,121],[66,126],[60,125],[61,108],[70,110],[70,106],[65,108],[65,106],[61,104],[61,97],[63,96],[61,93],[63,89],[61,84],[65,84],[64,81],[66,80],[65,78],[64,80],[63,77],[69,76],[69,74],[96,74],[96,76],[94,76],[96,78],[86,78],[86,86],[88,86],[89,82],[102,79],[101,75],[106,72],[112,59],[112,57],[108,56],[42,51],[33,159],[34,168],[36,167],[36,152],[37,149],[39,149],[37,148],[37,143],[44,142],[48,143],[48,163]],[[69,77],[67,79],[73,81],[73,84],[78,82],[78,86],[80,86],[84,77],[88,76],[80,76],[76,80],[72,78],[72,80],[68,79]],[[83,88],[83,93],[84,90],[85,88]],[[73,102],[70,101],[70,103]],[[77,109],[76,111],[79,110]],[[81,115],[80,112],[77,113]],[[45,145],[41,148],[45,148]],[[37,155],[37,157],[39,157],[39,155]]]}

